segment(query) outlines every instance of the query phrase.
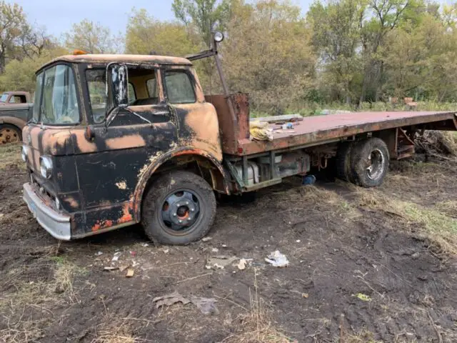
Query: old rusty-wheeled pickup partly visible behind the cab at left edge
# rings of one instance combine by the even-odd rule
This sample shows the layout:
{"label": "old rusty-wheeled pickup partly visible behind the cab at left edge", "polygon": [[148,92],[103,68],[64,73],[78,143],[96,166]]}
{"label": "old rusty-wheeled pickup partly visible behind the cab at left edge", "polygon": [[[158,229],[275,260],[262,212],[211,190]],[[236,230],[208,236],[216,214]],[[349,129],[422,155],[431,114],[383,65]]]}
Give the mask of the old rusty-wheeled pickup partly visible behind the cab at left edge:
{"label": "old rusty-wheeled pickup partly visible behind the cab at left edge", "polygon": [[21,141],[32,106],[27,91],[5,91],[0,95],[0,145]]}

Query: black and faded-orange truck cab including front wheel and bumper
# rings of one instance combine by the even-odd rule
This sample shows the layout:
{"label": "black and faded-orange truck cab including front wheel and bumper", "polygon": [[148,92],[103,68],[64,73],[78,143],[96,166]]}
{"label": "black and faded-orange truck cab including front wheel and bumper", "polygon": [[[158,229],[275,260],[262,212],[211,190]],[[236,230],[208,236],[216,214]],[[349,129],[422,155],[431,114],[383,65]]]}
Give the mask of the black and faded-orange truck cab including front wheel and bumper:
{"label": "black and faded-orange truck cab including front wheel and bumper", "polygon": [[24,199],[57,239],[141,222],[184,244],[211,226],[213,189],[226,192],[216,110],[188,59],[54,59],[36,73],[23,141]]}

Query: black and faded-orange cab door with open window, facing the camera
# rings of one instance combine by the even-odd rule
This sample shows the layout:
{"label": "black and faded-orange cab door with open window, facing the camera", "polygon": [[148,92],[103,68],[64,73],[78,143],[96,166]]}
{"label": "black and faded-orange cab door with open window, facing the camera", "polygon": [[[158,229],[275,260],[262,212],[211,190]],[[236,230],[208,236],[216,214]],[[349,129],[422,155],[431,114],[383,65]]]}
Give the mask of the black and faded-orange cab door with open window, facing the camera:
{"label": "black and faded-orange cab door with open window, facing the camera", "polygon": [[[156,69],[129,69],[130,106],[121,109],[109,126],[105,121],[104,74],[104,69],[86,70],[92,138],[86,138],[87,130],[74,134],[79,184],[84,209],[89,212],[86,225],[92,228],[96,216],[91,218],[91,210],[109,208],[113,213],[105,213],[107,220],[116,218],[114,212],[125,212],[141,168],[151,156],[168,150],[176,141],[176,120],[164,101]],[[148,84],[151,88],[157,85],[155,94],[149,94]]]}

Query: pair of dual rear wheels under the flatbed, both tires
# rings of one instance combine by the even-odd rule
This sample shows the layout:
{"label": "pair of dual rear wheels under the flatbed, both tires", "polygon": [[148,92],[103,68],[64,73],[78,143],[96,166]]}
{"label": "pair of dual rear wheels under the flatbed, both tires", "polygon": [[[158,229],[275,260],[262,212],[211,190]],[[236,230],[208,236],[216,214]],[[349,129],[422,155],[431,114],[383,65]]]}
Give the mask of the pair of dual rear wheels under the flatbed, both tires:
{"label": "pair of dual rear wheels under the flatbed, both tires", "polygon": [[386,143],[377,137],[344,142],[336,155],[336,174],[361,187],[378,187],[386,177],[389,159]]}

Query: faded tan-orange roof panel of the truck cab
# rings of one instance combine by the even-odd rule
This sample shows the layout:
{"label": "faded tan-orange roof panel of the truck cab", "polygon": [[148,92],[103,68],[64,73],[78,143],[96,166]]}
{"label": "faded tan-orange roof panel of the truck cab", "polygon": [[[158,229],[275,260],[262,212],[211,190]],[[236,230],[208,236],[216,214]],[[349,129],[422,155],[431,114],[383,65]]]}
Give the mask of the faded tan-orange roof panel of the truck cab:
{"label": "faded tan-orange roof panel of the truck cab", "polygon": [[65,61],[71,63],[132,63],[132,64],[179,64],[191,66],[192,62],[183,57],[174,56],[158,56],[158,55],[129,55],[129,54],[79,54],[65,55],[52,59],[48,63],[41,66],[41,69],[53,64],[57,61]]}

